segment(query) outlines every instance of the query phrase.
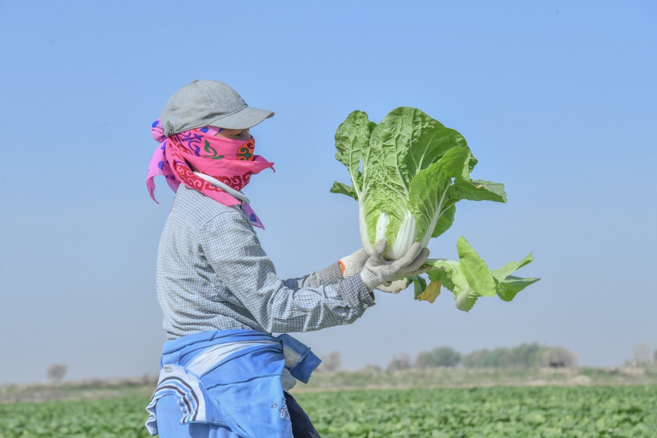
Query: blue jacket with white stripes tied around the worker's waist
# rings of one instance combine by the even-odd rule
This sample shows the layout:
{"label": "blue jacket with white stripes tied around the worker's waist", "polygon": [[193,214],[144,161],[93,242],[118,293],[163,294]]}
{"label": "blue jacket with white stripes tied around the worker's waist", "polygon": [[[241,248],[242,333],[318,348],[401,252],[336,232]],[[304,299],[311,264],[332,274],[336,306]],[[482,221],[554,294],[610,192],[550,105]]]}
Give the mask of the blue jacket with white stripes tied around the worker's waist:
{"label": "blue jacket with white stripes tied around the worker's waist", "polygon": [[309,347],[290,335],[248,329],[196,333],[166,341],[158,386],[147,406],[146,427],[158,433],[156,403],[173,395],[181,424],[230,429],[236,437],[292,437],[281,373],[307,383],[319,365]]}

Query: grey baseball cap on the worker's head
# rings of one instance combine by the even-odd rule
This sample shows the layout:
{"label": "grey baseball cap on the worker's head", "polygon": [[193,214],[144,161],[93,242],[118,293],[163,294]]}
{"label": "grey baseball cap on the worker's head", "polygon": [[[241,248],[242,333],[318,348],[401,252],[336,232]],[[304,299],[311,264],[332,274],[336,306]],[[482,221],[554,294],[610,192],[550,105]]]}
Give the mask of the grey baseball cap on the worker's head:
{"label": "grey baseball cap on the worker's head", "polygon": [[160,122],[168,137],[202,126],[242,130],[273,115],[271,111],[249,107],[237,91],[223,82],[193,80],[173,93],[164,105]]}

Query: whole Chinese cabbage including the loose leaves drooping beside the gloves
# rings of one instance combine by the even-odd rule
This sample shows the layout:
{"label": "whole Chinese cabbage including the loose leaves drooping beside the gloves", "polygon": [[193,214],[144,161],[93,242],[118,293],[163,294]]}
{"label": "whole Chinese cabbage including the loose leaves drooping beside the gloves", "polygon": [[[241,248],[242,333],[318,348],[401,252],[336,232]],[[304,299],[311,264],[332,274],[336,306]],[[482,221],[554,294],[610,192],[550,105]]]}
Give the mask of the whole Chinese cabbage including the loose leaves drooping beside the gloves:
{"label": "whole Chinese cabbage including the loose leaves drooping beside the gloves", "polygon": [[[414,242],[426,247],[451,227],[456,203],[463,199],[507,201],[503,184],[470,179],[477,160],[463,135],[419,109],[394,109],[379,124],[365,112],[351,112],[335,140],[335,157],[346,166],[352,185],[334,182],[331,191],[358,201],[361,243],[368,254],[383,237],[390,260]],[[428,275],[437,285],[413,279],[417,299],[433,303],[442,284],[453,291],[458,308],[470,310],[478,297],[497,294],[510,301],[538,280],[509,276],[532,261],[531,255],[491,272],[463,237],[457,248],[461,261],[432,261]]]}

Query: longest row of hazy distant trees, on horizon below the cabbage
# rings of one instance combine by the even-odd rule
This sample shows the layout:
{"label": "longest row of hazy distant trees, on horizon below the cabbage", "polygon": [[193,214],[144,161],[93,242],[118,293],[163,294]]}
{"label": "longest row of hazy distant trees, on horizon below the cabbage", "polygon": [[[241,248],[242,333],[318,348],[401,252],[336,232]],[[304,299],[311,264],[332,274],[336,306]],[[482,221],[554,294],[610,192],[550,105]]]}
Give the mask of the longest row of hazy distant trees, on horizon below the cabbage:
{"label": "longest row of hazy distant trees, on horizon below the cabbage", "polygon": [[387,370],[407,370],[409,368],[571,368],[577,365],[576,354],[563,347],[545,347],[538,343],[524,343],[517,347],[476,350],[461,354],[451,347],[438,347],[431,351],[421,351],[415,361],[408,354],[394,356]]}

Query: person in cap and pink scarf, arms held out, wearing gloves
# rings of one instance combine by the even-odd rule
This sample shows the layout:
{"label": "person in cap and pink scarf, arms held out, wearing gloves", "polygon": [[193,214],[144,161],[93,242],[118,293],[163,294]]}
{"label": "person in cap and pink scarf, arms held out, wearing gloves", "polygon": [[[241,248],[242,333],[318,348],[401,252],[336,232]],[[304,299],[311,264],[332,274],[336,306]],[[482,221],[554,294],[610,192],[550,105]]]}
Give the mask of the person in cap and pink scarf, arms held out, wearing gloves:
{"label": "person in cap and pink scarf, arms held out, wearing gloves", "polygon": [[271,333],[351,324],[374,305],[374,289],[399,291],[392,282],[421,272],[428,256],[416,244],[385,260],[382,239],[371,256],[359,249],[302,278],[278,278],[242,193],[254,174],[273,169],[249,132],[273,114],[204,80],[176,91],[152,124],[160,144],[148,191],[155,200],[157,175],[176,191],[158,249],[167,341],[147,407],[152,435],[319,437],[288,391],[320,360],[290,335]]}

